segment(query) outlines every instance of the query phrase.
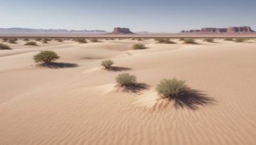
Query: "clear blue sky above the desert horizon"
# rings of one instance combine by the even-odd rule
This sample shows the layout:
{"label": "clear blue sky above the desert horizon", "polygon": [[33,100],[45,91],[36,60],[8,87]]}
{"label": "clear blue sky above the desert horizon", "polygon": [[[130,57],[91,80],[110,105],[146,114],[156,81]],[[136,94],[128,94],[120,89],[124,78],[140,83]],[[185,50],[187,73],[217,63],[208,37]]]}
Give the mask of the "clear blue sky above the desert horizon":
{"label": "clear blue sky above the desert horizon", "polygon": [[180,32],[250,26],[256,0],[0,0],[0,28]]}

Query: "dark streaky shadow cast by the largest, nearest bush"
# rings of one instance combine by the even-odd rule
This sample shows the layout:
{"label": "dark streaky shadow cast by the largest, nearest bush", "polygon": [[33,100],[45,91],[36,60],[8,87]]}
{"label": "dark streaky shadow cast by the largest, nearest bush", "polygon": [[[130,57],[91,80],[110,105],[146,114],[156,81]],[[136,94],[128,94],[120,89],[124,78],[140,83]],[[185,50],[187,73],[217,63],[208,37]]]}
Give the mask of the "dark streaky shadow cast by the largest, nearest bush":
{"label": "dark streaky shadow cast by the largest, nearest bush", "polygon": [[200,108],[199,106],[213,105],[216,103],[215,99],[207,97],[202,91],[192,89],[179,93],[177,96],[172,97],[171,100],[175,100],[176,109],[187,107],[188,109],[196,110]]}

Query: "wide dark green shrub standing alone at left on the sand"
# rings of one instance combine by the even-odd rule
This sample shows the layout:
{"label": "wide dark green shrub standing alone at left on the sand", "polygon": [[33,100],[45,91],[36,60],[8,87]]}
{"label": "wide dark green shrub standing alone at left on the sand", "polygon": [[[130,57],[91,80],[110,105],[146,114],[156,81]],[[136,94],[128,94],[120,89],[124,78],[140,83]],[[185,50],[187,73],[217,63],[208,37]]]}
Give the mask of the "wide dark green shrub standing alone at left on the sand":
{"label": "wide dark green shrub standing alone at left on the sand", "polygon": [[44,64],[51,64],[52,61],[60,59],[57,53],[53,51],[41,51],[33,57],[35,62],[44,62]]}

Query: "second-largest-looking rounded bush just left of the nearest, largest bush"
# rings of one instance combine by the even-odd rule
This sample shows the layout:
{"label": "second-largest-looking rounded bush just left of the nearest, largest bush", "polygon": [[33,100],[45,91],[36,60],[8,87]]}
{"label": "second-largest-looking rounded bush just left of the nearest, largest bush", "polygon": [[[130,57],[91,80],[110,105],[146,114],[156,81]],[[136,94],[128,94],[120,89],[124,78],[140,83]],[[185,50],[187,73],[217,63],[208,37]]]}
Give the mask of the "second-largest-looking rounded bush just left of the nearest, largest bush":
{"label": "second-largest-looking rounded bush just left of the nearest, largest bush", "polygon": [[131,86],[136,83],[136,76],[131,75],[129,73],[123,73],[116,76],[116,83],[119,86]]}

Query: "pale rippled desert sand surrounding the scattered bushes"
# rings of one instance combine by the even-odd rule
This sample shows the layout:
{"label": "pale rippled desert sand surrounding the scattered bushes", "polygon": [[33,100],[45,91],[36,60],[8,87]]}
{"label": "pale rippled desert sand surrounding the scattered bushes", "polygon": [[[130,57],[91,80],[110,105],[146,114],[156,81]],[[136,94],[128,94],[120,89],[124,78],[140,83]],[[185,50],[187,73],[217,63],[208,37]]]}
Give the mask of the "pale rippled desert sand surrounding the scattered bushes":
{"label": "pale rippled desert sand surrounding the scattered bushes", "polygon": [[[0,50],[0,144],[256,144],[255,39],[173,41],[4,43],[13,50]],[[136,43],[148,49],[132,50]],[[54,50],[66,64],[37,66],[40,50]],[[102,69],[106,59],[120,69]],[[116,88],[123,72],[148,88]],[[215,102],[177,109],[159,100],[154,88],[162,78],[186,80]]]}

